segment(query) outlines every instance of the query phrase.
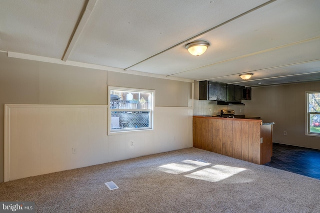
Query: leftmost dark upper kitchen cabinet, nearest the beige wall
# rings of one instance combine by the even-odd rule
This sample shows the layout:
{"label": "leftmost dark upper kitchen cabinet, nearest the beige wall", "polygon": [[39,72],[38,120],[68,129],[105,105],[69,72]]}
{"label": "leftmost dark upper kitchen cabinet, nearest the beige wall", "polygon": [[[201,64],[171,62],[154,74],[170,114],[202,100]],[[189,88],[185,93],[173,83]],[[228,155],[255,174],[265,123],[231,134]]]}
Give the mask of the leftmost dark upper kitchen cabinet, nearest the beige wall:
{"label": "leftmost dark upper kitchen cabinet, nearest the beige wall", "polygon": [[226,84],[213,81],[200,81],[199,100],[225,101]]}

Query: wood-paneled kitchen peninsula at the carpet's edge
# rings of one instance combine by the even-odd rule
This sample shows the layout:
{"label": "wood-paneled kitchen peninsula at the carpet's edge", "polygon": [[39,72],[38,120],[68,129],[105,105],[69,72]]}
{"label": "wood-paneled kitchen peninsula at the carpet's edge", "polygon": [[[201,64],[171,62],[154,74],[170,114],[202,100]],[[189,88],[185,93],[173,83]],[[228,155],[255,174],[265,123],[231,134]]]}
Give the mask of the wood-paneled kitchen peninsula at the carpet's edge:
{"label": "wood-paneled kitchen peninsula at the carpet's edge", "polygon": [[272,124],[258,119],[193,116],[193,147],[265,164],[272,156]]}

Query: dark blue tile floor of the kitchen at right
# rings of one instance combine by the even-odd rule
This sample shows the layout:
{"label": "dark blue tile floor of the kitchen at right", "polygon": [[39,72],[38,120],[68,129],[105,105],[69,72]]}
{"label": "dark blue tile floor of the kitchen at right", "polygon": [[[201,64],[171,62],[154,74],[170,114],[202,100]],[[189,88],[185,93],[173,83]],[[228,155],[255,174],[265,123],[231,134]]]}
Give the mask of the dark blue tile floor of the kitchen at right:
{"label": "dark blue tile floor of the kitchen at right", "polygon": [[320,150],[273,143],[271,162],[265,166],[320,180]]}

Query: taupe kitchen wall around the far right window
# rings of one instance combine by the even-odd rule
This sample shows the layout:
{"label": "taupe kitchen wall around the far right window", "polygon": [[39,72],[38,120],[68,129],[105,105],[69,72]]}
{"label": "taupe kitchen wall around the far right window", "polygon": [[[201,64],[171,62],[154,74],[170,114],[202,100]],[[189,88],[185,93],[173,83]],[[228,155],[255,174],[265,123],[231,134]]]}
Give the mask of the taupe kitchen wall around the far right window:
{"label": "taupe kitchen wall around the far right window", "polygon": [[320,137],[305,136],[306,91],[320,91],[320,82],[253,87],[252,100],[243,101],[246,115],[274,122],[273,142],[320,149]]}

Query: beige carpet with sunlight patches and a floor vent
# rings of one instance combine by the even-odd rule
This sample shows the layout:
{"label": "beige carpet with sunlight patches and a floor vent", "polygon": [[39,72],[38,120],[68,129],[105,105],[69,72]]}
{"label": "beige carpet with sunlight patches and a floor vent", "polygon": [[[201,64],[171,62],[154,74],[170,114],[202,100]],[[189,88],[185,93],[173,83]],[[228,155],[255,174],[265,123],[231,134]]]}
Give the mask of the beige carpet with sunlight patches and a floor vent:
{"label": "beige carpet with sunlight patches and a floor vent", "polygon": [[0,201],[41,213],[319,213],[320,180],[188,148],[1,183]]}

